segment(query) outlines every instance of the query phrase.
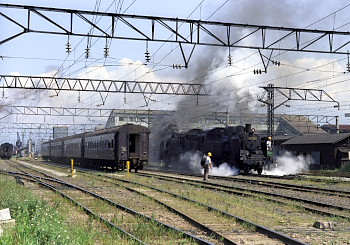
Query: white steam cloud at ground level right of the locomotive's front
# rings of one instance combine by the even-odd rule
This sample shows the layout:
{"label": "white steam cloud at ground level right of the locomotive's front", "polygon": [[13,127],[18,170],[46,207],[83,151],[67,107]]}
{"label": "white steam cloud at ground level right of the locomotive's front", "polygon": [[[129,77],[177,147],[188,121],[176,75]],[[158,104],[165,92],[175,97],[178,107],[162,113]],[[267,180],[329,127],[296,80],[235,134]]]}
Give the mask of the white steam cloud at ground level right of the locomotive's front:
{"label": "white steam cloud at ground level right of the locomotive's front", "polygon": [[285,152],[276,158],[277,167],[270,171],[264,171],[264,174],[279,176],[298,174],[308,170],[309,165],[313,162],[314,160],[311,156],[294,156],[290,152]]}

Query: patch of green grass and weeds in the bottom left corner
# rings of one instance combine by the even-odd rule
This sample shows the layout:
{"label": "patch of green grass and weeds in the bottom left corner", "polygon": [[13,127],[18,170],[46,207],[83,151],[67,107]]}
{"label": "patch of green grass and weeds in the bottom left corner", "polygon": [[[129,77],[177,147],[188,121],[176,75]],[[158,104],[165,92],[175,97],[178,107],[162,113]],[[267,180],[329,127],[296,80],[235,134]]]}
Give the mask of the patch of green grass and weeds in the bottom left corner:
{"label": "patch of green grass and weeds in the bottom left corner", "polygon": [[[58,211],[62,208],[61,205],[68,204],[64,200],[62,202],[62,199],[53,200],[55,204],[50,206],[26,187],[16,184],[13,178],[1,175],[0,190],[0,209],[10,208],[11,217],[16,220],[15,227],[6,229],[0,237],[0,245],[84,245],[96,244],[96,241],[99,241],[99,244],[118,244],[115,236],[114,239],[106,238],[108,234],[100,234],[96,226],[93,228],[89,224],[67,222],[64,213]],[[69,210],[74,208],[68,207]]]}

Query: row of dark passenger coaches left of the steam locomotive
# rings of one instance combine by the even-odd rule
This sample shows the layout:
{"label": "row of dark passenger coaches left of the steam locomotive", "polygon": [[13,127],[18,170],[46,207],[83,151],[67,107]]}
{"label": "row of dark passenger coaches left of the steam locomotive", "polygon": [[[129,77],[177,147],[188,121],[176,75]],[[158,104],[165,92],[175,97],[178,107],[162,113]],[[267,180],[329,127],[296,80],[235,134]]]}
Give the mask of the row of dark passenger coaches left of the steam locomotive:
{"label": "row of dark passenger coaches left of the steam locomotive", "polygon": [[127,124],[42,143],[42,158],[93,169],[122,170],[127,161],[135,172],[148,163],[148,128]]}

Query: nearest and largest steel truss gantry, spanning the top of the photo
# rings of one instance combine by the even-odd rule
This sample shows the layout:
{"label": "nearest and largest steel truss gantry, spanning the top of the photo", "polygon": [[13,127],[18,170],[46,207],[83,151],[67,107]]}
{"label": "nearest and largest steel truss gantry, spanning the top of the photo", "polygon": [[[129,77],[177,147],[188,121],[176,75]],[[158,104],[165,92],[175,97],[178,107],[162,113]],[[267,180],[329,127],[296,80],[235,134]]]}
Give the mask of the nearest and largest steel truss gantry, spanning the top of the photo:
{"label": "nearest and largest steel truss gantry, spanning the top of the photo", "polygon": [[[15,4],[0,4],[0,9],[0,16],[21,30],[11,37],[0,40],[0,45],[25,33],[33,32],[333,54],[347,54],[350,46],[350,32],[348,31],[249,25]],[[20,19],[16,13],[11,11],[4,13],[4,9],[21,9],[25,12],[25,17]],[[60,16],[54,18],[53,13]],[[52,30],[35,26],[34,21],[32,21],[34,15],[40,18],[41,23],[45,22],[45,24],[52,26]],[[93,18],[101,21],[93,23]],[[85,26],[80,27],[79,23]],[[106,23],[109,23],[108,27],[106,27]],[[167,32],[172,38],[168,38],[169,35],[164,35],[164,32]],[[183,50],[181,51],[183,52]],[[188,61],[189,59],[185,59],[186,64]]]}

